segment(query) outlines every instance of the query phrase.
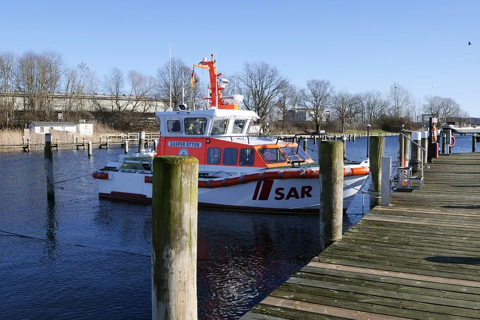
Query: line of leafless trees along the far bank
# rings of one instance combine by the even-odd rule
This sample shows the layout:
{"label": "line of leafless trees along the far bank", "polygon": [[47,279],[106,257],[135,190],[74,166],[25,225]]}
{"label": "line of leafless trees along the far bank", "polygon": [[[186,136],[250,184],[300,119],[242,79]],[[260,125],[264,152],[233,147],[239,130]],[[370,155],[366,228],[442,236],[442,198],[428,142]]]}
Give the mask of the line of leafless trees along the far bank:
{"label": "line of leafless trees along the far bank", "polygon": [[[172,57],[158,67],[154,76],[136,70],[125,75],[113,67],[99,77],[85,63],[67,65],[55,51],[22,54],[3,51],[0,52],[0,128],[23,127],[31,120],[56,120],[59,111],[63,120],[94,116],[105,122],[118,118],[113,124],[127,125],[168,107],[170,92],[173,106],[181,102],[184,91],[190,109],[204,108],[206,101],[202,97],[208,94],[208,74],[194,73],[196,85],[190,87],[192,71],[180,58]],[[228,78],[230,84],[224,93],[242,94],[241,107],[255,111],[259,123],[276,123],[281,127],[294,121],[294,112],[303,112],[315,131],[324,127],[326,120],[345,130],[366,123],[384,129],[399,123],[418,124],[424,114],[438,117],[440,123],[468,117],[451,97],[428,94],[414,97],[407,87],[396,82],[390,84],[388,92],[349,92],[345,88],[336,89],[327,79],[309,79],[304,86],[297,86],[265,61],[244,62],[242,70]]]}

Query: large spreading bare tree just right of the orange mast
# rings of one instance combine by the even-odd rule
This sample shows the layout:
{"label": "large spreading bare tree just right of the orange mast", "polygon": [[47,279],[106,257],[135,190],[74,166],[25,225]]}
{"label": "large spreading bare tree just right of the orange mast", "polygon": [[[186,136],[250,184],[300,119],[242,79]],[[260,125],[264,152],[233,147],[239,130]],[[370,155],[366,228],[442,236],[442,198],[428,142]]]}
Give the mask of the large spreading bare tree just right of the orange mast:
{"label": "large spreading bare tree just right of the orange mast", "polygon": [[240,74],[243,105],[263,122],[277,105],[281,92],[289,85],[280,71],[265,61],[245,62]]}

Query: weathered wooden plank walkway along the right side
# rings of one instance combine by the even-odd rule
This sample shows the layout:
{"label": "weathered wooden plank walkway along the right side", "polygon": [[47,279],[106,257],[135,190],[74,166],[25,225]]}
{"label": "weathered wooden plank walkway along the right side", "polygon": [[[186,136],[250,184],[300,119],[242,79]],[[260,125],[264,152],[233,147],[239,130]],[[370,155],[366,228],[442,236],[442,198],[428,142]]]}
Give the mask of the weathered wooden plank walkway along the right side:
{"label": "weathered wooden plank walkway along the right side", "polygon": [[245,314],[274,319],[480,318],[480,153],[440,156]]}

